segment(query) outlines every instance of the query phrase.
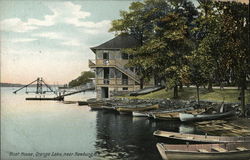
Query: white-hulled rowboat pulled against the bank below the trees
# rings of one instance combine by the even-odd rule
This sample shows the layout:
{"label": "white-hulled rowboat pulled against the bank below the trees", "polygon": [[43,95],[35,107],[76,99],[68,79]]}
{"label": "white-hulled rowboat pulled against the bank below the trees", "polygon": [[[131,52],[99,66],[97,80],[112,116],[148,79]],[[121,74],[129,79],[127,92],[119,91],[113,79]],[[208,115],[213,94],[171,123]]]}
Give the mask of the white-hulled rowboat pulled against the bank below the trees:
{"label": "white-hulled rowboat pulled against the bank below the trees", "polygon": [[216,119],[229,118],[234,115],[235,115],[235,111],[215,113],[215,114],[179,113],[179,117],[182,122],[216,120]]}

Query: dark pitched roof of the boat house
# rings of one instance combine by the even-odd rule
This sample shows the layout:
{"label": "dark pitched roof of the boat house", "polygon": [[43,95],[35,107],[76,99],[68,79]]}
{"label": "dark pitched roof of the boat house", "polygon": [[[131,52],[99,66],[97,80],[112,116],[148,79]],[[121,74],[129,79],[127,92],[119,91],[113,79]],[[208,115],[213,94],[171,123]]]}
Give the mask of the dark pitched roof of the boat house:
{"label": "dark pitched roof of the boat house", "polygon": [[90,48],[93,52],[97,49],[124,49],[139,46],[140,42],[128,34],[119,35],[99,46]]}

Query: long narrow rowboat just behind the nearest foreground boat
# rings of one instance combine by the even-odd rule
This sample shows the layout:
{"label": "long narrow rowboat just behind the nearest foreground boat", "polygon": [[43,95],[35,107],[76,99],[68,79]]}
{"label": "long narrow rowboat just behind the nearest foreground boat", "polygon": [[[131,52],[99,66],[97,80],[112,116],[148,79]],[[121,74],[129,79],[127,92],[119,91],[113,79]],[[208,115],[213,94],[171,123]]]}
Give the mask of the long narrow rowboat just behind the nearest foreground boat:
{"label": "long narrow rowboat just behind the nearest foreground boat", "polygon": [[248,142],[250,143],[250,136],[208,136],[197,134],[184,134],[177,132],[168,132],[157,130],[153,133],[154,136],[168,138],[172,140],[195,143],[230,143],[230,142]]}

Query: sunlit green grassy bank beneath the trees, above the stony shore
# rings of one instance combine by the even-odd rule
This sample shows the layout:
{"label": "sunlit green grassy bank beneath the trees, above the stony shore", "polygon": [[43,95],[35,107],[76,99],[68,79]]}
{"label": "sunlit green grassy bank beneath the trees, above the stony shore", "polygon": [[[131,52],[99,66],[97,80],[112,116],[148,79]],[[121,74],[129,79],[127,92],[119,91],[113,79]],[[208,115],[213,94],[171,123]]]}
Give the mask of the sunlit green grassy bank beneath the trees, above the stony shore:
{"label": "sunlit green grassy bank beneath the trees, above the stony shore", "polygon": [[[214,89],[214,92],[208,92],[207,89],[200,89],[200,100],[210,100],[210,101],[223,101],[223,97],[225,98],[225,102],[240,102],[238,100],[240,91],[237,89]],[[139,98],[139,99],[171,99],[173,97],[173,90],[165,90],[162,89],[160,91],[131,97],[126,96],[128,98]],[[196,88],[184,88],[183,91],[179,92],[179,99],[182,100],[195,100],[197,99]],[[250,90],[246,90],[246,103],[250,103]]]}

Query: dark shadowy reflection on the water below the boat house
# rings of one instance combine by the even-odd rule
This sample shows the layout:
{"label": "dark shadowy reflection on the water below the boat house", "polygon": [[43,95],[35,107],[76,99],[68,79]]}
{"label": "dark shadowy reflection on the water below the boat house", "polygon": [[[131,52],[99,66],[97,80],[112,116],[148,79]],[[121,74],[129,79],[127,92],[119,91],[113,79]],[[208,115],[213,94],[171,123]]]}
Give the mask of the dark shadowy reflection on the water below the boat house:
{"label": "dark shadowy reflection on the water below the boat house", "polygon": [[[154,121],[98,111],[96,117],[96,155],[104,159],[161,159],[156,148],[155,130],[198,133],[192,124]],[[169,142],[174,143],[174,142]]]}

